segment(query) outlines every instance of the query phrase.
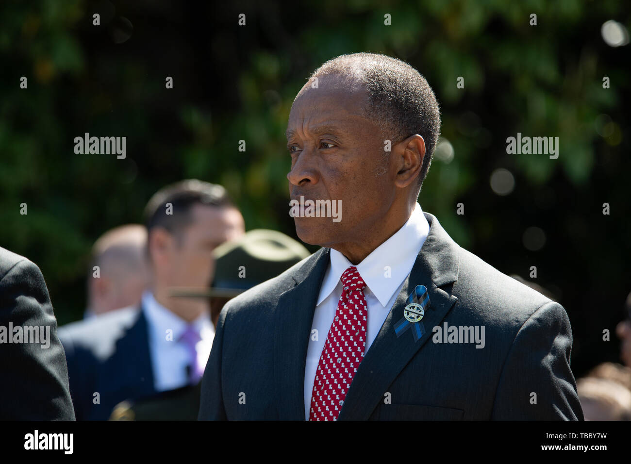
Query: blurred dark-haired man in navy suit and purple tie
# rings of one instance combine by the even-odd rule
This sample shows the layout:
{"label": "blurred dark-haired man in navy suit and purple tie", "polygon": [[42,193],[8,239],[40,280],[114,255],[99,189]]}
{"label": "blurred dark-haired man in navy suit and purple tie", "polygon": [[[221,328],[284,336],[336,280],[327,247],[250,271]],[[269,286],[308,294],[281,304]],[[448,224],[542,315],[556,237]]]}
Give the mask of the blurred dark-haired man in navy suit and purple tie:
{"label": "blurred dark-haired man in navy suit and purple tie", "polygon": [[109,419],[124,400],[199,382],[215,328],[208,301],[174,297],[206,287],[213,250],[244,234],[221,186],[186,180],[164,187],[145,209],[150,289],[140,311],[114,311],[60,330],[78,420]]}

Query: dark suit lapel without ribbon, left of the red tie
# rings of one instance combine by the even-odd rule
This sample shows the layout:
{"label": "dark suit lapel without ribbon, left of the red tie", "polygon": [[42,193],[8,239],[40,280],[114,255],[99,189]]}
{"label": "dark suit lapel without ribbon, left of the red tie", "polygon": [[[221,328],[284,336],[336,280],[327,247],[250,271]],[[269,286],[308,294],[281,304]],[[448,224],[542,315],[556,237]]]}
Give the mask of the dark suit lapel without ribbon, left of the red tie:
{"label": "dark suit lapel without ribbon, left of the red tie", "polygon": [[321,248],[293,279],[295,287],[280,295],[275,314],[274,372],[281,420],[305,420],[305,362],[315,303],[329,265]]}

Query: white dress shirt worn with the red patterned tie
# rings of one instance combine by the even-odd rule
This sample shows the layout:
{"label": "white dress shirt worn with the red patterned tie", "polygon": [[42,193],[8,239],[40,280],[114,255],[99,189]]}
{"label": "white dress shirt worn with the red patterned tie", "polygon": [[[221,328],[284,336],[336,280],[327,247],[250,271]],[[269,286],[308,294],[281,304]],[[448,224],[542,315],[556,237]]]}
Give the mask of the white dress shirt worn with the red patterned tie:
{"label": "white dress shirt worn with the red patterned tie", "polygon": [[[375,340],[381,326],[399,296],[403,283],[410,275],[430,230],[429,223],[423,215],[421,205],[416,203],[410,218],[396,234],[372,251],[361,263],[357,271],[366,283],[363,293],[368,304],[368,326],[366,349]],[[311,393],[314,387],[315,371],[322,355],[322,349],[333,323],[338,301],[342,295],[342,273],[352,266],[346,256],[331,249],[329,267],[324,274],[322,287],[315,306],[311,333],[317,330],[317,340],[309,338],[307,362],[305,364],[305,419],[309,420]]]}

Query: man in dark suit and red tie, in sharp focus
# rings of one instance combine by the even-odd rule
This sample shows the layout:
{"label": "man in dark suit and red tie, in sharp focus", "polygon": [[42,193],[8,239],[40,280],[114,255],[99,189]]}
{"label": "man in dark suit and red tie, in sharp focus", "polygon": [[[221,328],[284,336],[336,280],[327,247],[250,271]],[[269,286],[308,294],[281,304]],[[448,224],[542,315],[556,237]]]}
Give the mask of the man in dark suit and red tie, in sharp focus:
{"label": "man in dark suit and red tie, in sharp focus", "polygon": [[[288,121],[290,195],[341,200],[341,221],[301,211],[298,237],[322,248],[224,307],[199,419],[582,419],[563,307],[416,203],[440,129],[427,81],[375,54],[312,77]],[[430,304],[415,341],[394,327],[417,285]],[[483,326],[483,347],[435,343],[445,323]]]}

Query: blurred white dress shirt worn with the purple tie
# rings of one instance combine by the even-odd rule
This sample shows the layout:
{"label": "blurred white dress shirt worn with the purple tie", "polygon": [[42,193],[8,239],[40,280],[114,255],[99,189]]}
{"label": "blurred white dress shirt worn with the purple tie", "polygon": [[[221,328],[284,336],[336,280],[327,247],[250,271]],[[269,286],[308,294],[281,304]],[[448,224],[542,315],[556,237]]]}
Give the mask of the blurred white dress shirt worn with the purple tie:
{"label": "blurred white dress shirt worn with the purple tie", "polygon": [[[175,390],[186,386],[189,384],[186,368],[191,359],[186,345],[178,340],[186,330],[187,321],[158,303],[149,291],[143,293],[142,308],[148,324],[149,352],[156,391]],[[196,345],[198,362],[206,367],[215,338],[215,326],[209,314],[202,314],[191,324],[199,330],[201,336]],[[167,333],[168,330],[172,331],[172,336]]]}

